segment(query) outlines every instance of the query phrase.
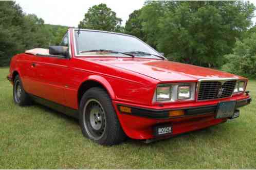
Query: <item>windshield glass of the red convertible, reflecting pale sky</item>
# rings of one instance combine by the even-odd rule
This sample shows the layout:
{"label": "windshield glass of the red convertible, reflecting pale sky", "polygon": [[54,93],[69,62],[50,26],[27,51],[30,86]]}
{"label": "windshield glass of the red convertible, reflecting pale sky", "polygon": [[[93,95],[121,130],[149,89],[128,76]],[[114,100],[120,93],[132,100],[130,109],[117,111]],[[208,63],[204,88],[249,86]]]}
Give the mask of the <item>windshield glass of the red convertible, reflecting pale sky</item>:
{"label": "windshield glass of the red convertible, reflecting pale sky", "polygon": [[[143,41],[132,37],[115,33],[98,31],[75,31],[76,50],[78,55],[90,55],[97,50],[118,51],[122,53],[133,53],[135,56],[147,58],[159,58],[154,55],[160,55],[157,51],[145,44]],[[92,52],[94,51],[94,52]],[[89,53],[88,53],[89,52]],[[138,53],[140,52],[140,53]],[[144,52],[144,53],[141,53]],[[152,55],[149,55],[152,54]],[[104,54],[103,54],[104,55]],[[122,55],[121,53],[116,55]],[[128,55],[124,55],[130,57]]]}

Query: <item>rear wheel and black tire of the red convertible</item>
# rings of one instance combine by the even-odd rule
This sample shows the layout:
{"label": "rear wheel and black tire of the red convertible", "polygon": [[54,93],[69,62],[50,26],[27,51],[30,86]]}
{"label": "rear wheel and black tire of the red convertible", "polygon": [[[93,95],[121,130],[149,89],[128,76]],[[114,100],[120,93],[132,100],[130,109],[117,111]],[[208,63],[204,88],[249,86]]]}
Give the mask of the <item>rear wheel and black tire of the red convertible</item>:
{"label": "rear wheel and black tire of the red convertible", "polygon": [[21,107],[31,104],[31,99],[23,89],[22,81],[19,75],[16,75],[14,78],[12,93],[14,102]]}

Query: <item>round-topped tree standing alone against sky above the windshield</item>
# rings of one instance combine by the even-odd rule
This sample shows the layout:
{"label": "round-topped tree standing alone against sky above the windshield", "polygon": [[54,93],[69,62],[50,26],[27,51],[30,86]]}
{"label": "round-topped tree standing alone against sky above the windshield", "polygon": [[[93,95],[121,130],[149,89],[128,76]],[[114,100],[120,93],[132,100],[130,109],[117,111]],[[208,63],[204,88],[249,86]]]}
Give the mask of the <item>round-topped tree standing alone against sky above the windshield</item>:
{"label": "round-topped tree standing alone against sky above the windshield", "polygon": [[116,12],[108,8],[106,4],[95,5],[88,9],[84,19],[80,22],[80,28],[120,32],[122,19],[116,16]]}

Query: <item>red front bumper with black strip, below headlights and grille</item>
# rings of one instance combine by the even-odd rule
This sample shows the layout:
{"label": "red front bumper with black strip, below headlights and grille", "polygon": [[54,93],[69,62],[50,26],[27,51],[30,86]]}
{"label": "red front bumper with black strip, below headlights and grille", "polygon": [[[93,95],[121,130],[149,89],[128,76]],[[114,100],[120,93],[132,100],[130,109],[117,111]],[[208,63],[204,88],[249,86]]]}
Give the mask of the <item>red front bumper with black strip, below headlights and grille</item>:
{"label": "red front bumper with black strip, below headlights and grille", "polygon": [[[251,102],[249,96],[236,98],[235,109],[243,107]],[[159,124],[172,124],[173,132],[171,136],[181,133],[191,132],[208,126],[226,122],[228,118],[215,119],[217,102],[204,106],[182,107],[172,109],[152,109],[130,104],[113,102],[121,126],[127,136],[132,139],[154,139],[153,127]],[[131,113],[123,113],[120,106],[131,108]],[[175,106],[176,107],[176,106]],[[185,115],[179,117],[169,117],[170,110],[184,110]],[[170,136],[169,136],[170,137]]]}

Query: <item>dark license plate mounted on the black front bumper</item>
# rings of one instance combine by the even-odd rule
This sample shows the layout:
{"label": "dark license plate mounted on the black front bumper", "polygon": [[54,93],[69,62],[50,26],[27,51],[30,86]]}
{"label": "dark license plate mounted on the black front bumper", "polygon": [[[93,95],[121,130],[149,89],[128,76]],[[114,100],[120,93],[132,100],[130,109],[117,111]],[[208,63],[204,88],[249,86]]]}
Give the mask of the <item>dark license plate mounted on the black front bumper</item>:
{"label": "dark license plate mounted on the black front bumper", "polygon": [[216,119],[232,117],[235,109],[235,101],[220,102],[217,106]]}

